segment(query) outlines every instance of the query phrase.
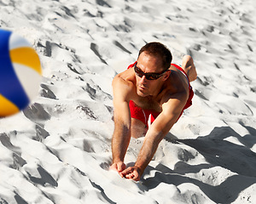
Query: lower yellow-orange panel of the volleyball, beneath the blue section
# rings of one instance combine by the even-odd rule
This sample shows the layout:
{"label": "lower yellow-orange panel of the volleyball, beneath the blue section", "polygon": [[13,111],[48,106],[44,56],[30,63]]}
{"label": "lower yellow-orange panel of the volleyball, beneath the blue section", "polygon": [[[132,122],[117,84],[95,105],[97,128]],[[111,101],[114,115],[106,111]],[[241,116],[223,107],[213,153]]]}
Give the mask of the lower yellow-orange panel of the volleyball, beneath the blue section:
{"label": "lower yellow-orange panel of the volleyball, beneath the blue section", "polygon": [[13,115],[19,111],[20,110],[16,105],[0,94],[0,117]]}

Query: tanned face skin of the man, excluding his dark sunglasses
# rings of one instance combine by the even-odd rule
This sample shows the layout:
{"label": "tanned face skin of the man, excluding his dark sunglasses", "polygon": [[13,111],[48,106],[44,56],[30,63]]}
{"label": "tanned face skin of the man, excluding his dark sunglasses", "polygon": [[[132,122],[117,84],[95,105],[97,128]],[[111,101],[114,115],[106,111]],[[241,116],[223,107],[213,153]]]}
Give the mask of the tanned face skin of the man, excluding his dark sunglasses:
{"label": "tanned face skin of the man, excluding his dark sunglasses", "polygon": [[[160,73],[163,71],[161,68],[160,59],[157,57],[151,56],[143,52],[137,59],[137,67],[144,73]],[[161,77],[156,80],[148,80],[145,76],[138,77],[136,75],[137,81],[137,94],[142,97],[149,95],[158,94],[156,93],[159,90]]]}

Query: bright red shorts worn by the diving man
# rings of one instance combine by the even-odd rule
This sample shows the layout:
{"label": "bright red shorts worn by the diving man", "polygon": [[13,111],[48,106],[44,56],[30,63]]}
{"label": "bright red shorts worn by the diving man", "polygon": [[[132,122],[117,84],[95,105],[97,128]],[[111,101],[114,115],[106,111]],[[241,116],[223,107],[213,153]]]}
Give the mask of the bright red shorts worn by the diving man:
{"label": "bright red shorts worn by the diving man", "polygon": [[[135,65],[135,63],[129,65],[127,69],[130,69],[131,67],[133,67]],[[179,71],[182,71],[183,74],[187,77],[188,82],[189,82],[189,77],[187,76],[186,72],[183,71],[183,68],[181,68],[180,66],[175,65],[175,64],[172,64],[172,65],[175,66]],[[189,99],[187,100],[186,105],[184,105],[183,111],[185,109],[189,108],[190,105],[192,105],[193,96],[194,96],[194,92],[189,83]],[[140,120],[147,127],[148,127],[148,118],[150,115],[151,115],[151,118],[150,118],[151,123],[154,122],[155,118],[160,115],[160,112],[156,112],[156,111],[152,111],[152,110],[143,110],[141,107],[137,106],[132,100],[130,100],[129,106],[130,106],[130,111],[131,111],[131,117]],[[180,116],[183,114],[183,111],[181,112]]]}

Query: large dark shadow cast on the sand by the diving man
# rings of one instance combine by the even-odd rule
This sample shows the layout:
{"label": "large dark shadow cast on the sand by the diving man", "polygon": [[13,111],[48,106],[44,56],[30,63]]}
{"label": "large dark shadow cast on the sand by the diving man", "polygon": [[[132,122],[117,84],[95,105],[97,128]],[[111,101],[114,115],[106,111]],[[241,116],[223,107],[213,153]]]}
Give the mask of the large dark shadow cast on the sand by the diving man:
{"label": "large dark shadow cast on the sand by the diving man", "polygon": [[[160,164],[156,167],[160,172],[155,173],[153,178],[143,179],[143,184],[150,190],[160,183],[176,186],[190,183],[198,186],[205,195],[216,203],[236,201],[242,190],[256,184],[256,153],[250,150],[256,144],[256,130],[253,127],[243,127],[247,128],[249,133],[243,137],[230,127],[215,127],[212,133],[197,139],[175,139],[175,137],[167,135],[166,140],[172,143],[189,145],[200,152],[206,158],[208,164],[192,166],[179,161],[174,170]],[[236,137],[243,145],[224,140],[230,136]],[[185,173],[199,173],[201,169],[211,167],[224,167],[233,173],[237,173],[237,175],[230,176],[217,186],[205,184],[200,180],[185,176]],[[147,171],[150,170],[150,167],[148,167]]]}

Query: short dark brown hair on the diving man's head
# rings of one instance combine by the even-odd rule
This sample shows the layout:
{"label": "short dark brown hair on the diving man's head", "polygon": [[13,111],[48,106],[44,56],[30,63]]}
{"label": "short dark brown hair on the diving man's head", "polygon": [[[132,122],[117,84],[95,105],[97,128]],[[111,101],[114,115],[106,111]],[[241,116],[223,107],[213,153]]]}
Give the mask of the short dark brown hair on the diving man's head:
{"label": "short dark brown hair on the diving man's head", "polygon": [[169,67],[171,66],[172,54],[164,44],[160,42],[149,42],[140,49],[138,57],[143,52],[146,52],[149,55],[160,57],[164,70],[169,69]]}

